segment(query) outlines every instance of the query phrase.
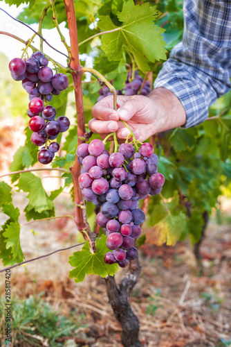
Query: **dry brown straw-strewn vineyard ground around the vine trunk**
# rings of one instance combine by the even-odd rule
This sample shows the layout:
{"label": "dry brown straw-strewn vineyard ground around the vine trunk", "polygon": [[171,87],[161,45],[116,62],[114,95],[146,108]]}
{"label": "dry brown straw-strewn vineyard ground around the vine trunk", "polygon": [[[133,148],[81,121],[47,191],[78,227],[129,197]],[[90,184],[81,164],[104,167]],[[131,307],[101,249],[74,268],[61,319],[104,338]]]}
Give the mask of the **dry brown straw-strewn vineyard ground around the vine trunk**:
{"label": "dry brown straw-strewn vineyard ground around the vine trunk", "polygon": [[[15,196],[15,205],[24,205],[23,195]],[[57,198],[58,215],[69,214],[66,196]],[[70,203],[71,204],[71,203]],[[140,280],[133,290],[131,306],[140,317],[140,341],[148,347],[220,347],[223,337],[231,337],[231,228],[230,203],[223,205],[222,225],[212,218],[201,247],[203,271],[196,267],[192,248],[187,242],[174,247],[142,246]],[[21,216],[23,218],[23,216]],[[21,223],[24,221],[21,220]],[[26,222],[26,220],[25,220]],[[75,226],[71,219],[56,219],[25,226],[21,246],[26,259],[75,244]],[[31,229],[38,232],[33,235]],[[120,325],[107,303],[102,278],[91,276],[75,284],[68,279],[68,257],[73,250],[56,253],[12,269],[12,294],[25,300],[43,291],[43,297],[55,310],[70,314],[78,308],[84,314],[82,328],[74,346],[121,347]],[[117,280],[127,270],[117,273]],[[1,274],[3,276],[3,274]],[[36,278],[36,280],[35,280]],[[3,281],[1,281],[2,283]],[[24,343],[15,346],[26,346]]]}

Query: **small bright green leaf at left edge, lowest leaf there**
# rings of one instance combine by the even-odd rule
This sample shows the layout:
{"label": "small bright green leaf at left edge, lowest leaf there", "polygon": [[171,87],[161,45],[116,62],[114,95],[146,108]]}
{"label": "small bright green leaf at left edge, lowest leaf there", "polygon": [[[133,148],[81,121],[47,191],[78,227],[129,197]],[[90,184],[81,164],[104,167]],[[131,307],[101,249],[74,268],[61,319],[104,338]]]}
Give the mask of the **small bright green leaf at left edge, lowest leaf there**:
{"label": "small bright green leaf at left edge, lowest leaf there", "polygon": [[24,260],[24,253],[21,251],[20,246],[20,225],[17,221],[10,223],[6,227],[6,231],[3,232],[3,237],[6,237],[6,248],[11,247],[11,253],[13,256],[13,260],[16,257],[19,257],[22,260]]}

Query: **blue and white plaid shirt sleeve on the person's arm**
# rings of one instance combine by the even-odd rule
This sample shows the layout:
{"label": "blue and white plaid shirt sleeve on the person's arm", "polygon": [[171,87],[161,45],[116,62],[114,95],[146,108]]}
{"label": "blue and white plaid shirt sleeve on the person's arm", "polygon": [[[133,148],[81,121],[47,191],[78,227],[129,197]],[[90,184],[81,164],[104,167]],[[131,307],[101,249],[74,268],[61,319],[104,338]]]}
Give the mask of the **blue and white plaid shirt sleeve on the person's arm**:
{"label": "blue and white plaid shirt sleeve on the person's arm", "polygon": [[231,87],[231,0],[184,0],[183,11],[183,40],[154,87],[178,97],[187,115],[184,128],[189,128],[202,123],[210,105]]}

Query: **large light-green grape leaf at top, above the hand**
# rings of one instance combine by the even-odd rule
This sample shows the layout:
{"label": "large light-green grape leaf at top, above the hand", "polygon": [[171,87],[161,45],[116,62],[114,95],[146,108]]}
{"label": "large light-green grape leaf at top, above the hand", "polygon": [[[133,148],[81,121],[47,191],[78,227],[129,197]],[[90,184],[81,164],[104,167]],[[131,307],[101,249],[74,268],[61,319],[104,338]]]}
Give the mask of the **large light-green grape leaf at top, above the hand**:
{"label": "large light-green grape leaf at top, above the hand", "polygon": [[115,26],[109,16],[99,16],[98,27],[104,31],[113,31],[102,35],[102,49],[109,60],[122,58],[122,46],[127,47],[139,69],[145,73],[150,70],[148,62],[166,60],[165,42],[161,34],[165,31],[154,25],[154,19],[160,15],[156,6],[149,7],[149,3],[134,5],[133,0],[124,3],[122,12],[118,12],[118,19],[122,26]]}

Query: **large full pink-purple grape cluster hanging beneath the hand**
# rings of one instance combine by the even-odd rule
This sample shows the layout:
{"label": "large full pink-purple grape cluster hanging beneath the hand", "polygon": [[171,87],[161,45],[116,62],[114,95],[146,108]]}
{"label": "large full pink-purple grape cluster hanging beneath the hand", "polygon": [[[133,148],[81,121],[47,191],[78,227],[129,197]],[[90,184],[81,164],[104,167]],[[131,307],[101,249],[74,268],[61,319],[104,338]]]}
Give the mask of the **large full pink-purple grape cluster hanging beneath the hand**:
{"label": "large full pink-purple grape cluster hanging beneath the hand", "polygon": [[106,232],[107,247],[112,251],[105,254],[104,262],[126,267],[138,257],[133,244],[145,221],[138,200],[159,194],[165,183],[163,174],[157,172],[158,156],[149,143],[141,144],[136,153],[133,144],[120,144],[118,152],[110,155],[100,139],[80,144],[76,153],[83,166],[79,178],[82,196],[101,206],[96,222]]}

